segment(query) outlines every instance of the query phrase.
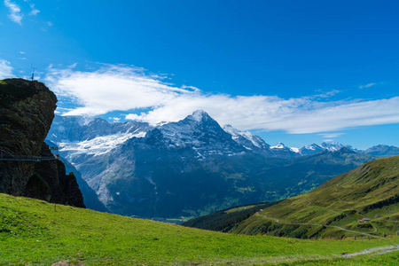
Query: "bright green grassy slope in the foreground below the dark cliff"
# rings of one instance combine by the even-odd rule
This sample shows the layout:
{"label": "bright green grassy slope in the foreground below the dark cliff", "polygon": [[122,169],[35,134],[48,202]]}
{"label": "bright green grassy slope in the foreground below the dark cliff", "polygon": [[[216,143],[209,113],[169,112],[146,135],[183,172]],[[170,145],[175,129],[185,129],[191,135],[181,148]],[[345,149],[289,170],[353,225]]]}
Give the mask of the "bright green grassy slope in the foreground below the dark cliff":
{"label": "bright green grassy slope in the foreground below the dark cliff", "polygon": [[395,265],[399,252],[339,258],[398,238],[301,240],[224,234],[0,194],[0,264]]}

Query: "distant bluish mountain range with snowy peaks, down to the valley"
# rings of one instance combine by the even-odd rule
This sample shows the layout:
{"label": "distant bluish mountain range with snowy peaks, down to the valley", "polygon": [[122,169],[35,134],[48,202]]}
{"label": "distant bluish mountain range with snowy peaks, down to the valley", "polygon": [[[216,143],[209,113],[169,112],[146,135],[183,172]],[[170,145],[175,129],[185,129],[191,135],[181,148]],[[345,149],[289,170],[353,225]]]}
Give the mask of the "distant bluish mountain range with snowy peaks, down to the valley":
{"label": "distant bluish mountain range with snowy peaks, down to the valley", "polygon": [[155,126],[56,116],[47,141],[108,209],[140,217],[197,216],[284,199],[375,159],[369,150],[395,153],[384,145],[362,153],[337,143],[270,146],[251,132],[222,128],[204,111]]}

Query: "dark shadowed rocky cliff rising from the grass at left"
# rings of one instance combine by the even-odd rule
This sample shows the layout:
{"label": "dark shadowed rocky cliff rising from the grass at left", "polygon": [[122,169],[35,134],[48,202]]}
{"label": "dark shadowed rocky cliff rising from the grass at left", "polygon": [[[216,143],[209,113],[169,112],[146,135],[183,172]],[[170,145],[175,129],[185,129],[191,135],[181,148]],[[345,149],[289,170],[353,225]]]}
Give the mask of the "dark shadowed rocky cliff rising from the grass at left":
{"label": "dark shadowed rocky cliff rising from the grass at left", "polygon": [[43,143],[56,103],[41,82],[0,81],[0,192],[84,207],[74,175]]}

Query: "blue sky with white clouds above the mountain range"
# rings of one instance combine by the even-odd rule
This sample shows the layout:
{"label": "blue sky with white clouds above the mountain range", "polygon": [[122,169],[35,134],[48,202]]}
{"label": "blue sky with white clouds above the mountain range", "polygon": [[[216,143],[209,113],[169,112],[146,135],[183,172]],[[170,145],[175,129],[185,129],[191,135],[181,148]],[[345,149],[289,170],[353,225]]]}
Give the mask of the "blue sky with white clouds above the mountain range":
{"label": "blue sky with white clouds above the mountain range", "polygon": [[1,1],[0,76],[35,66],[59,113],[399,146],[397,1]]}

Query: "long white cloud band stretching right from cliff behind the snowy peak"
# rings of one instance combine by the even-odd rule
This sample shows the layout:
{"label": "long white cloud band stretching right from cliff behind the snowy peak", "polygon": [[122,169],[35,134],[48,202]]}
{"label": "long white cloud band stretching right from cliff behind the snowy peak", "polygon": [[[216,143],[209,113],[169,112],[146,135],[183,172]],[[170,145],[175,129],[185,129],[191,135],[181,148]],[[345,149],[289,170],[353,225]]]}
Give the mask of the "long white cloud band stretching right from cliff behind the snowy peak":
{"label": "long white cloud band stretching right from cliff behind the snowy peak", "polygon": [[[178,121],[206,110],[221,124],[238,129],[318,133],[399,122],[399,97],[379,100],[326,101],[328,95],[302,98],[207,94],[195,87],[178,88],[131,66],[104,65],[94,72],[50,68],[48,84],[59,96],[81,107],[66,114],[103,114],[114,110],[149,109],[127,119]],[[334,133],[335,135],[337,133]],[[330,134],[331,135],[331,134]],[[327,137],[327,136],[326,136]]]}

